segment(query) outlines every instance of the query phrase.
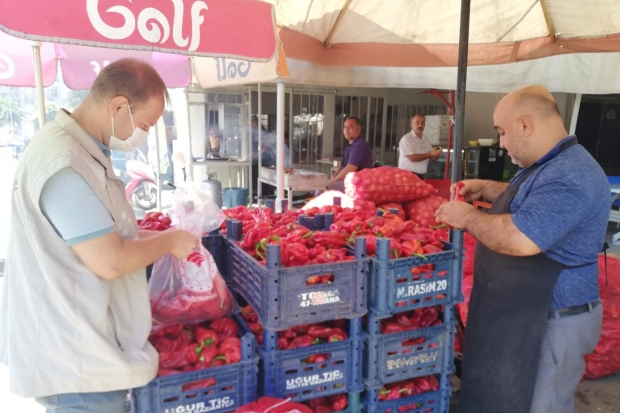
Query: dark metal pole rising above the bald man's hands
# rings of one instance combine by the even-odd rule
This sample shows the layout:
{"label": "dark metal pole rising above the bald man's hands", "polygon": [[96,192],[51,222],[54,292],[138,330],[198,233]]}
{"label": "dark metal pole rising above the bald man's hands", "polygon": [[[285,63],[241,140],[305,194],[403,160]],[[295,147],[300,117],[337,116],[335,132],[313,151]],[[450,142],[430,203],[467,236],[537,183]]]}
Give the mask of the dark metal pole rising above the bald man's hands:
{"label": "dark metal pole rising above the bald man's hands", "polygon": [[463,176],[463,138],[465,132],[465,90],[467,87],[467,54],[469,46],[469,15],[471,0],[461,0],[461,28],[459,34],[459,67],[456,79],[456,124],[454,136],[454,158],[452,159],[452,182]]}

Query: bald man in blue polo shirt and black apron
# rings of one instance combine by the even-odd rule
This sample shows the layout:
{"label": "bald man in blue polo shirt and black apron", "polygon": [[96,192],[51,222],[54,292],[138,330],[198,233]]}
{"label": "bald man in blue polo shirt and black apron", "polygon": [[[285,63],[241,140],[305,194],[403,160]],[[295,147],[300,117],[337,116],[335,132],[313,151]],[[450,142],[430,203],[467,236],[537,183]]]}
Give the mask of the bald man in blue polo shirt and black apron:
{"label": "bald man in blue polo shirt and black apron", "polygon": [[460,195],[491,201],[488,214],[459,201],[436,214],[478,240],[461,412],[573,412],[601,333],[609,184],[544,87],[508,94],[493,119],[519,173],[509,185],[463,181]]}

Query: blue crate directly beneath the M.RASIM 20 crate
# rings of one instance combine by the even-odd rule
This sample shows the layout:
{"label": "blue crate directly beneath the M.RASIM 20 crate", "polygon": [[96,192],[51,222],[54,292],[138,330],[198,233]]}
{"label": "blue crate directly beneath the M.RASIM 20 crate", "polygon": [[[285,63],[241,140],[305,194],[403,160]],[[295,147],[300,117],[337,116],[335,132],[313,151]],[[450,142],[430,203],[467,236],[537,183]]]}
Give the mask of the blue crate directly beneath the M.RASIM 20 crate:
{"label": "blue crate directly beneath the M.RASIM 20 crate", "polygon": [[[453,373],[454,306],[444,306],[442,320],[443,324],[434,327],[378,334],[380,319],[369,316],[362,357],[366,388],[376,390],[395,381]],[[422,343],[412,342],[422,338]]]}

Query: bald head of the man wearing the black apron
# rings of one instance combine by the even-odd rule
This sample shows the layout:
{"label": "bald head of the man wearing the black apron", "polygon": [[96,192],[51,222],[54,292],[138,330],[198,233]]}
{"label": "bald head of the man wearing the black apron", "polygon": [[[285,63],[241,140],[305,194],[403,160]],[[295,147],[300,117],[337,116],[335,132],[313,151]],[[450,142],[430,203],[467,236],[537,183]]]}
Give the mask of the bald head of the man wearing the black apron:
{"label": "bald head of the man wearing the black apron", "polygon": [[527,167],[568,135],[553,95],[540,85],[506,95],[493,114],[500,146],[513,162]]}

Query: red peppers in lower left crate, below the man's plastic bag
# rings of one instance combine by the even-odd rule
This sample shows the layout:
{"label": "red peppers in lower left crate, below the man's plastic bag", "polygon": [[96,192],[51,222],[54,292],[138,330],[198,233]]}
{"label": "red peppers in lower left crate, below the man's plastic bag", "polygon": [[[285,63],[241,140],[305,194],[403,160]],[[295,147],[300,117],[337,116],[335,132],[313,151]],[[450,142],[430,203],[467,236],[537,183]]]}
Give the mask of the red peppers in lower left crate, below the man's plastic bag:
{"label": "red peppers in lower left crate, below the man's plastic bag", "polygon": [[209,323],[154,329],[149,341],[159,353],[157,376],[169,376],[241,361],[239,329],[225,317]]}

